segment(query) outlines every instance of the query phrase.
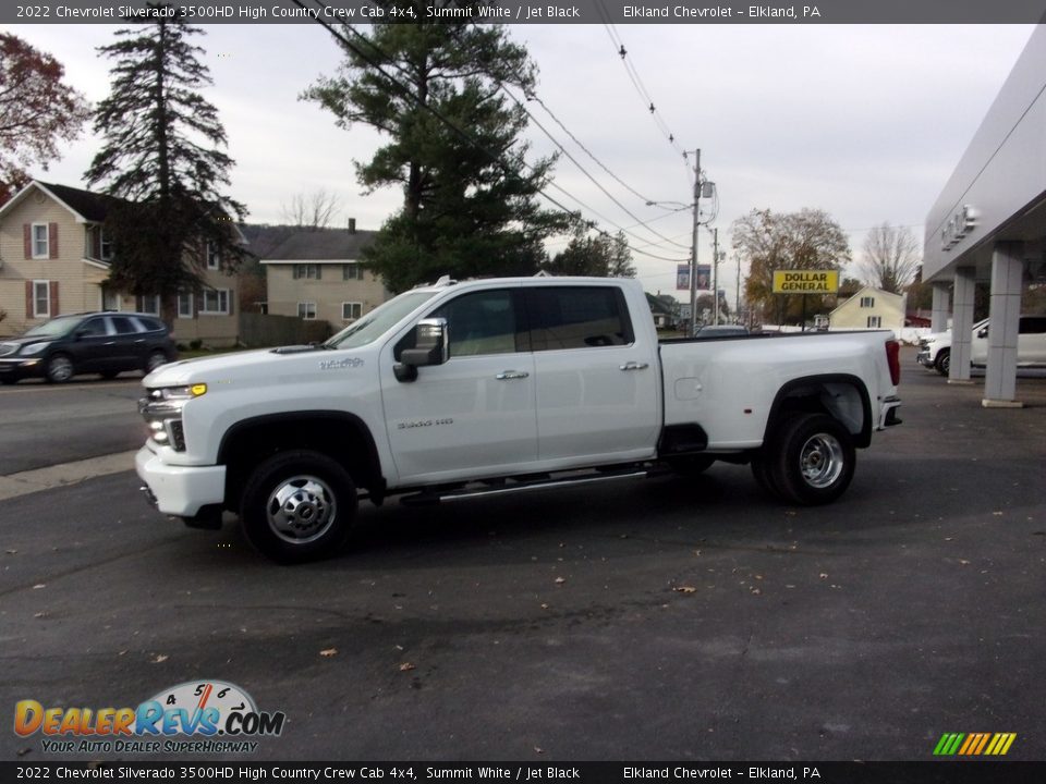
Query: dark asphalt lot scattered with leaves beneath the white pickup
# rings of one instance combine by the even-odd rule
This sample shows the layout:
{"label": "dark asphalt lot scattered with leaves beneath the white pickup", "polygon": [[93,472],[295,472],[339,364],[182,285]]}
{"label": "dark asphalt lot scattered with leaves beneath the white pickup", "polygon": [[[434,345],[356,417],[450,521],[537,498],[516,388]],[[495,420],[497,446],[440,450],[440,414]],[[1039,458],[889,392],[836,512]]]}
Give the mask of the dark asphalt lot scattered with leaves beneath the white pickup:
{"label": "dark asphalt lot scattered with leaves beneath the white pickup", "polygon": [[[8,500],[0,706],[231,682],[287,724],[227,759],[929,760],[1008,732],[1044,760],[1046,379],[986,411],[904,358],[904,424],[826,507],[717,465],[365,506],[344,555],[280,567],[130,471]],[[10,730],[0,756],[84,759]]]}

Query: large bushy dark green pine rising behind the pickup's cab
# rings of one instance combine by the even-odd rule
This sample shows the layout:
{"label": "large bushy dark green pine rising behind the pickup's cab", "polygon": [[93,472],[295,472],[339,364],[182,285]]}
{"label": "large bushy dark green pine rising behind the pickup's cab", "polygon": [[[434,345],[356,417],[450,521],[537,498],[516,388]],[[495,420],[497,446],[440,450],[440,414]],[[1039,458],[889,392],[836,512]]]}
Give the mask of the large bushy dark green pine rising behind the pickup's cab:
{"label": "large bushy dark green pine rising behind the pickup's cab", "polygon": [[[388,13],[393,3],[375,4]],[[413,9],[415,20],[426,19],[424,2]],[[526,164],[519,142],[526,113],[499,91],[500,84],[533,88],[525,49],[501,27],[465,20],[376,24],[365,35],[344,29],[352,46],[343,46],[338,75],[321,77],[303,98],[332,112],[341,127],[364,123],[389,137],[356,163],[368,192],[403,191],[402,209],[364,254],[367,266],[392,291],[441,274],[535,272],[545,258],[542,241],[567,221],[539,208],[554,159]]]}

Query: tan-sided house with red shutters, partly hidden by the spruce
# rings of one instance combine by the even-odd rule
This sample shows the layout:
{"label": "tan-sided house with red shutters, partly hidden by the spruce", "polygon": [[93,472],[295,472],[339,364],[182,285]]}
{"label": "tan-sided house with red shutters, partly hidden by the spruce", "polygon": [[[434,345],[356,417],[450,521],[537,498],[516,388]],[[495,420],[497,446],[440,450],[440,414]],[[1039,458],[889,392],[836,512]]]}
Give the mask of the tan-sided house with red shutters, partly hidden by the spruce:
{"label": "tan-sided house with red shutters, partly hidden by the spruce", "polygon": [[[33,181],[0,207],[0,334],[15,334],[62,314],[137,310],[160,315],[158,296],[107,286],[112,243],[105,218],[112,197]],[[178,298],[172,335],[212,345],[236,340],[235,277],[208,253],[204,289]]]}

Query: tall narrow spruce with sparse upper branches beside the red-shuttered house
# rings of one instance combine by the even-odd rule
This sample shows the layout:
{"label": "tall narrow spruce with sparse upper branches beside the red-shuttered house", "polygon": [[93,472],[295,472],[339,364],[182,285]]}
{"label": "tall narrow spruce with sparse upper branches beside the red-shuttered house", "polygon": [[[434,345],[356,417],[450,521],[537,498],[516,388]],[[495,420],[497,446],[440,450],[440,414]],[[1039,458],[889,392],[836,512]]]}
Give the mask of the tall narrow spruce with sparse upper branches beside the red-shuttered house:
{"label": "tall narrow spruce with sparse upper branches beside the red-shuttered house", "polygon": [[119,40],[99,48],[115,65],[111,91],[94,115],[105,146],[84,176],[119,199],[106,218],[113,241],[109,282],[159,294],[166,314],[178,292],[199,290],[208,255],[229,272],[244,257],[232,221],[246,210],[221,193],[233,164],[219,149],[226,132],[197,91],[211,84],[203,49],[190,42],[200,34],[178,16],[157,16],[117,30]]}

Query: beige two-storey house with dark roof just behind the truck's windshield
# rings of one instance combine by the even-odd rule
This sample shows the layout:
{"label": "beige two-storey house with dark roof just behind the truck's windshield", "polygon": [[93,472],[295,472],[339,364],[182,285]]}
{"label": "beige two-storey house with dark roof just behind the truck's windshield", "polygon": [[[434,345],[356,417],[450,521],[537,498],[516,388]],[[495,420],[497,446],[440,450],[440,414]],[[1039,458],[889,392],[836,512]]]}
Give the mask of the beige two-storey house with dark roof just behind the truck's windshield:
{"label": "beige two-storey house with dark roof just behind the truck's windshield", "polygon": [[326,321],[337,332],[388,299],[381,278],[360,261],[376,232],[312,229],[295,232],[269,252],[266,268],[268,313]]}

